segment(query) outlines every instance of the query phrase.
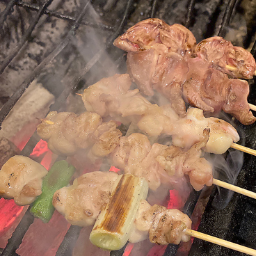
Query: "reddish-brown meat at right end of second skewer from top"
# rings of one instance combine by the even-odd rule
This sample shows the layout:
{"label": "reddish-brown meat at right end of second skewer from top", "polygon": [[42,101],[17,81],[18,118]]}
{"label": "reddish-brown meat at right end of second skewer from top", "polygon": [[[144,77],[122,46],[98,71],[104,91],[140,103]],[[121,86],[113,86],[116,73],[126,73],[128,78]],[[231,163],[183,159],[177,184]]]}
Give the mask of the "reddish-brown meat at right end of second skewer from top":
{"label": "reddish-brown meat at right end of second skewer from top", "polygon": [[249,85],[240,79],[228,79],[221,71],[207,65],[202,58],[188,61],[189,72],[183,85],[183,97],[191,106],[206,113],[223,110],[230,113],[243,125],[251,125],[256,118],[247,102]]}

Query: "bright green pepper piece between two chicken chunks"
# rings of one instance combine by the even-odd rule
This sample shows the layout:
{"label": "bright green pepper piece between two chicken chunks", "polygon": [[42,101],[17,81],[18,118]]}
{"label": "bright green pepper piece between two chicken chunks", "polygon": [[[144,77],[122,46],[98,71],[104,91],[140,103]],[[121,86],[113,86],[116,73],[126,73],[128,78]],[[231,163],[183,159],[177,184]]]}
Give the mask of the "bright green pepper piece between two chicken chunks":
{"label": "bright green pepper piece between two chicken chunks", "polygon": [[35,200],[30,209],[33,216],[40,218],[44,223],[49,222],[52,214],[54,214],[54,206],[52,205],[54,193],[70,183],[74,171],[74,166],[65,160],[54,163],[42,180],[41,195]]}

